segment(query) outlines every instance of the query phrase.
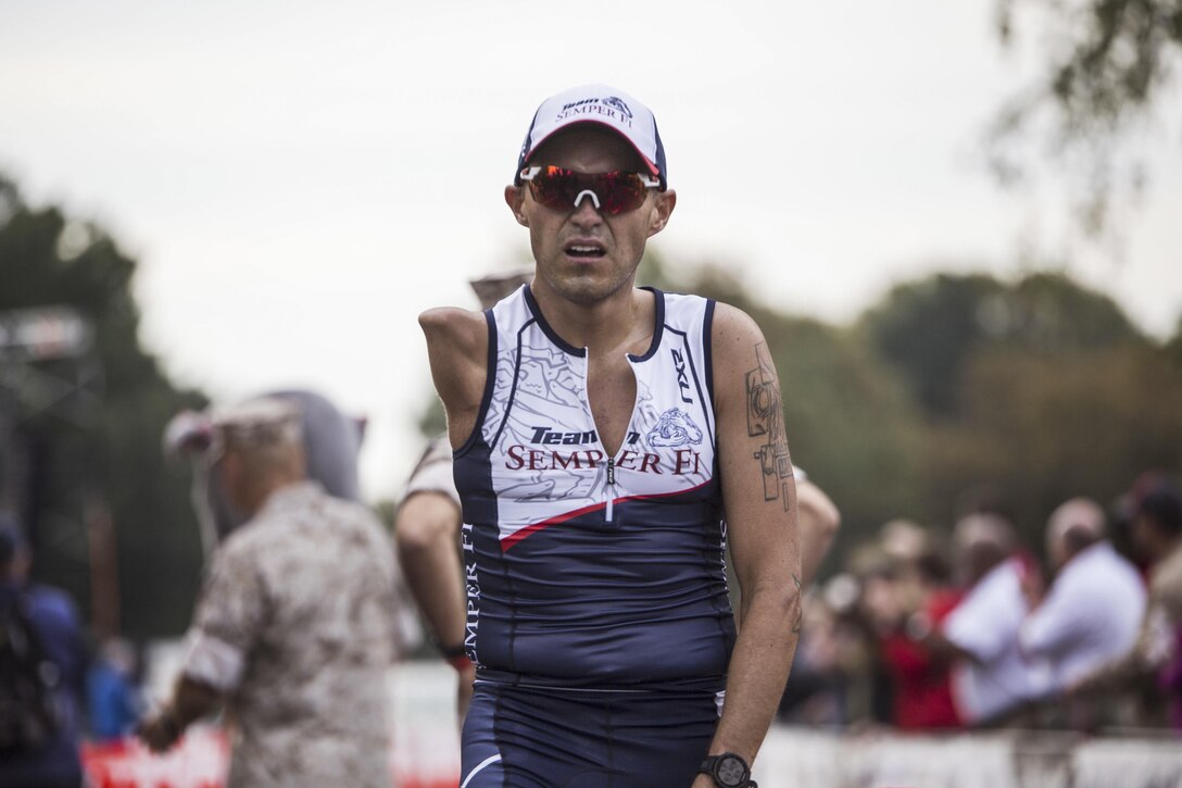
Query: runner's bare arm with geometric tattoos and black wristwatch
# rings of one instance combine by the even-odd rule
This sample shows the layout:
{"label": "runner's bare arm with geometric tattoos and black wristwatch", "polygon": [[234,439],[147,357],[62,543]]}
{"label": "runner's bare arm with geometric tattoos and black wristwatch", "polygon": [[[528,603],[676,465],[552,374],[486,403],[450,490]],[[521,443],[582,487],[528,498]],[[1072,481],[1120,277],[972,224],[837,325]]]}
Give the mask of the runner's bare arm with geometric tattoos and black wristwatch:
{"label": "runner's bare arm with geometric tattoos and black wristwatch", "polygon": [[[751,763],[784,693],[800,629],[795,485],[779,380],[762,334],[747,315],[719,304],[713,343],[722,495],[742,628],[710,754],[735,753]],[[694,784],[713,782],[700,775]]]}

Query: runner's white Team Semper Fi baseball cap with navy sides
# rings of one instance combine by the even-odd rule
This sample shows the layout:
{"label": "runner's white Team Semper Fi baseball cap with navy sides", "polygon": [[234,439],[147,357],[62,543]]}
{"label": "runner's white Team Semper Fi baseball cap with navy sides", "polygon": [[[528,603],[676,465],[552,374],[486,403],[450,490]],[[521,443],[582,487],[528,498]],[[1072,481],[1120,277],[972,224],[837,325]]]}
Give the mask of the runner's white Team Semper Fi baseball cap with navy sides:
{"label": "runner's white Team Semper Fi baseball cap with navy sides", "polygon": [[628,93],[608,85],[571,88],[541,103],[521,143],[513,182],[521,185],[521,170],[543,142],[556,131],[578,123],[595,123],[624,137],[644,160],[649,173],[661,180],[661,190],[669,188],[664,146],[652,111]]}

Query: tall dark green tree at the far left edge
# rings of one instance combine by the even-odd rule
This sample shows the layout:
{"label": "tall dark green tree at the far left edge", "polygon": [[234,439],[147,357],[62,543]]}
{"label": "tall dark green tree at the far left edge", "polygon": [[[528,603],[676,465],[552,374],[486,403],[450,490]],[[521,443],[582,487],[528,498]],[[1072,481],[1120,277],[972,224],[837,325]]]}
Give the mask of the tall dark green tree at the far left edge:
{"label": "tall dark green tree at the far left edge", "polygon": [[176,411],[206,398],[177,390],[141,348],[135,267],[98,227],[26,206],[0,177],[0,312],[65,305],[93,327],[80,359],[0,362],[7,381],[74,389],[53,400],[0,385],[0,448],[13,458],[0,505],[26,521],[37,575],[70,590],[84,612],[89,529],[96,512],[110,511],[123,631],[157,635],[187,622],[201,562],[188,483],[164,466],[161,435]]}

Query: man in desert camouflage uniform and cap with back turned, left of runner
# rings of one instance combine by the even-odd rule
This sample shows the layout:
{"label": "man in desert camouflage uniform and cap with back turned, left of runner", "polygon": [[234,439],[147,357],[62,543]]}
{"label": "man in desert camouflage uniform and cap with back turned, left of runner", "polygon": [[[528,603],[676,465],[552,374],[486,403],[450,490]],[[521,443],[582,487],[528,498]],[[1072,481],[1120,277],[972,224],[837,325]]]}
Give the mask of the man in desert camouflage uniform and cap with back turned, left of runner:
{"label": "man in desert camouflage uniform and cap with back turned, left of runner", "polygon": [[389,786],[392,545],[365,508],[306,479],[299,413],[255,400],[215,419],[210,457],[248,517],[214,554],[155,751],[225,700],[228,786]]}

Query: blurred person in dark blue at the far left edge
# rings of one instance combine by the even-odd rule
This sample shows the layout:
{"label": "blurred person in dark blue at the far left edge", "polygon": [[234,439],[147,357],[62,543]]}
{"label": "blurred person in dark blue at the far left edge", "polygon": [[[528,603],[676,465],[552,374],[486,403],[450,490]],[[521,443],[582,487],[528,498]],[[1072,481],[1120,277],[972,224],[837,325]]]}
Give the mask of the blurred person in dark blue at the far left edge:
{"label": "blurred person in dark blue at the far left edge", "polygon": [[0,512],[0,786],[77,787],[83,633],[65,593],[28,582],[32,560]]}

